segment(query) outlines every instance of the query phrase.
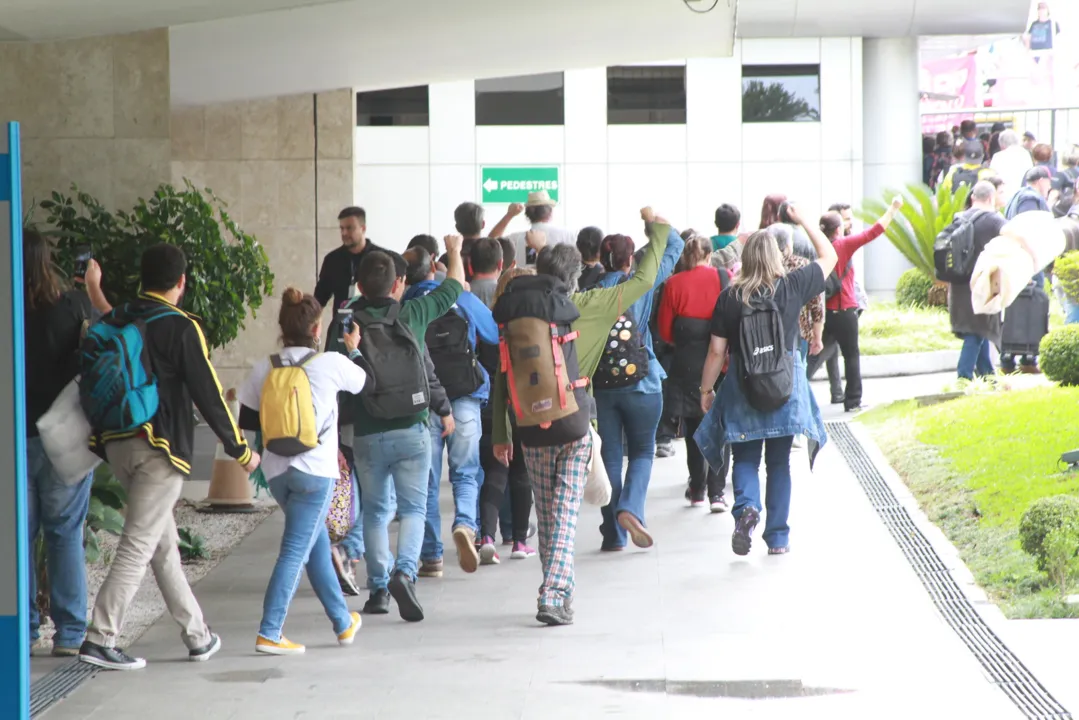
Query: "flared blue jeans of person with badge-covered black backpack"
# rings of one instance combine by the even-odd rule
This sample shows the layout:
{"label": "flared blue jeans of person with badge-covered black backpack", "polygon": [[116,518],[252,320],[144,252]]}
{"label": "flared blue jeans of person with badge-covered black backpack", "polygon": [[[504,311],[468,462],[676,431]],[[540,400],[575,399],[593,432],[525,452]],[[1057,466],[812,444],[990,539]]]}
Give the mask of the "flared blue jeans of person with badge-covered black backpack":
{"label": "flared blue jeans of person with badge-covered black backpack", "polygon": [[[644,525],[644,499],[648,493],[652,462],[656,457],[656,427],[664,410],[661,393],[601,390],[596,393],[603,466],[611,479],[611,504],[603,507],[605,547],[626,544],[626,531],[617,522],[618,513],[629,513]],[[629,445],[629,467],[622,481],[622,436]]]}

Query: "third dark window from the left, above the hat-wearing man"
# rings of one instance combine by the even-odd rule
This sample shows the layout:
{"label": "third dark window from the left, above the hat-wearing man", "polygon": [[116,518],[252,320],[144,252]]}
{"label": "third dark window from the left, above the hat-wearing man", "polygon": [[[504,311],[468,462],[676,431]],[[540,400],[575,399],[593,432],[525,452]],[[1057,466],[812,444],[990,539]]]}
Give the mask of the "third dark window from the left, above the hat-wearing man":
{"label": "third dark window from the left, above the hat-wearing man", "polygon": [[685,66],[607,68],[607,124],[685,124]]}

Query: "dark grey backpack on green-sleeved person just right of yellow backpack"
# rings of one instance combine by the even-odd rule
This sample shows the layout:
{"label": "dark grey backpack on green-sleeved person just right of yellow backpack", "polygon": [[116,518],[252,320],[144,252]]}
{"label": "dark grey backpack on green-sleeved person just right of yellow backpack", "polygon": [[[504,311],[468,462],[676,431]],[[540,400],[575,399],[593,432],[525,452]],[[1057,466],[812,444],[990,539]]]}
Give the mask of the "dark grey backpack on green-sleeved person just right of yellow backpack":
{"label": "dark grey backpack on green-sleeved person just right of yellow backpack", "polygon": [[360,328],[359,351],[374,376],[360,399],[372,418],[397,420],[427,409],[431,389],[423,351],[411,328],[400,320],[400,303],[385,317],[367,310],[353,315]]}

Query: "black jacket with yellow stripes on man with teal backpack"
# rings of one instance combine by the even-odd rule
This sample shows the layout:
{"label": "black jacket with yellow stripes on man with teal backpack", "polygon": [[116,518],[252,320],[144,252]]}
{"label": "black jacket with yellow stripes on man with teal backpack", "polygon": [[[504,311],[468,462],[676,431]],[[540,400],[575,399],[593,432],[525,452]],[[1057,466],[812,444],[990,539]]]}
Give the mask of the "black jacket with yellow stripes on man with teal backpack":
{"label": "black jacket with yellow stripes on man with teal backpack", "polygon": [[251,459],[247,440],[229,411],[221,392],[221,382],[209,362],[209,347],[203,335],[199,317],[186,313],[163,298],[142,294],[138,300],[117,308],[103,322],[126,323],[131,320],[160,311],[162,305],[177,311],[177,315],[162,317],[147,325],[146,347],[150,366],[158,380],[160,405],[153,420],[128,433],[105,433],[91,439],[91,449],[105,457],[105,446],[115,440],[142,436],[161,450],[176,470],[191,474],[194,450],[194,406],[230,458],[241,464]]}

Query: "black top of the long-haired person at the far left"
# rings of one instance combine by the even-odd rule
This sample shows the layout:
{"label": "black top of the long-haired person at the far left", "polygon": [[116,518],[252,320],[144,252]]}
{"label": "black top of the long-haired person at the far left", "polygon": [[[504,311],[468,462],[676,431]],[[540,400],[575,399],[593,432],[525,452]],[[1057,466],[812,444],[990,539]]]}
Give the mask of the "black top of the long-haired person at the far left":
{"label": "black top of the long-haired person at the far left", "polygon": [[79,375],[79,345],[91,318],[90,298],[72,290],[45,308],[26,309],[26,431],[38,436],[38,420]]}

